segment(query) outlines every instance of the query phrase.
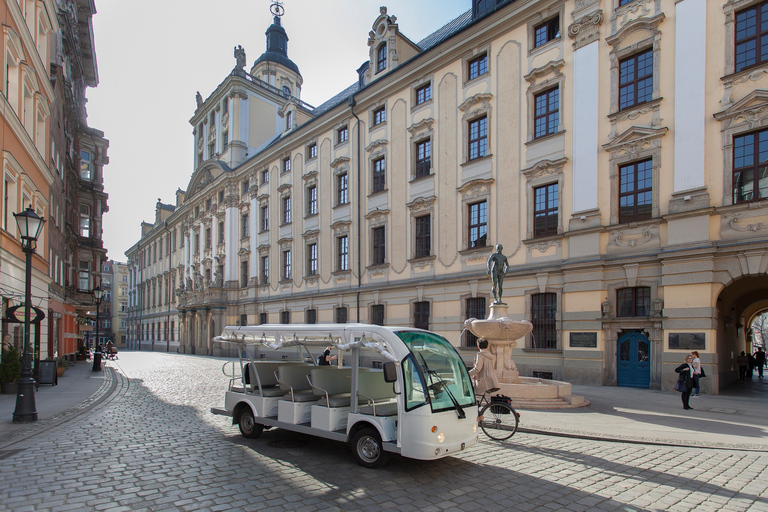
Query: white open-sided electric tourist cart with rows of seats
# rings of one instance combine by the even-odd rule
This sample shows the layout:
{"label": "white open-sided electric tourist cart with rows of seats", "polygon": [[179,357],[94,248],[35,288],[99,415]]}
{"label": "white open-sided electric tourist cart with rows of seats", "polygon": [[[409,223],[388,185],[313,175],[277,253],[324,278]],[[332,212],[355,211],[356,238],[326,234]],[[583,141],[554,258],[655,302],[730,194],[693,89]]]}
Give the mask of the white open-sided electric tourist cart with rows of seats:
{"label": "white open-sided electric tourist cart with rows of seats", "polygon": [[[390,453],[432,460],[478,441],[472,381],[451,343],[430,331],[365,324],[226,327],[238,344],[224,409],[240,433],[282,428],[350,443],[357,462]],[[318,365],[332,347],[337,358]],[[235,363],[236,364],[236,363]]]}

